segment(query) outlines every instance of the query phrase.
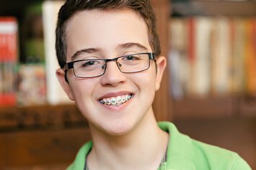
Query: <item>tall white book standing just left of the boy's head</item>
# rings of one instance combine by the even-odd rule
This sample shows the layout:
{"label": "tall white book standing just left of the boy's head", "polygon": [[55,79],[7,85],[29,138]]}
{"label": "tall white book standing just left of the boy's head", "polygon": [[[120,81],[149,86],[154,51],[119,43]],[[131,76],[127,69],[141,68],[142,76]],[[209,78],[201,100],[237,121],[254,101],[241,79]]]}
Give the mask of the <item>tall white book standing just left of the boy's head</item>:
{"label": "tall white book standing just left of the boy's head", "polygon": [[53,105],[58,103],[71,103],[71,100],[69,100],[68,96],[61,88],[56,77],[56,70],[59,65],[55,49],[55,29],[58,11],[63,3],[63,1],[43,1],[43,32],[45,44],[47,100],[48,103]]}

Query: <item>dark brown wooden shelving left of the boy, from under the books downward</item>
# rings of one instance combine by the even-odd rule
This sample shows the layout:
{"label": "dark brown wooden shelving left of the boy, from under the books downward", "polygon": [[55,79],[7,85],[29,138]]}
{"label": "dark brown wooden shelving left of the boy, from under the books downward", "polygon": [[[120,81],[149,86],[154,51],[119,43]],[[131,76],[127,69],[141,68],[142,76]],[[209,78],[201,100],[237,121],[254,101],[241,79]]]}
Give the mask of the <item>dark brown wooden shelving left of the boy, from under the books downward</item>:
{"label": "dark brown wooden shelving left of the boy, from under the books downward", "polygon": [[90,138],[74,104],[1,108],[0,169],[67,166]]}

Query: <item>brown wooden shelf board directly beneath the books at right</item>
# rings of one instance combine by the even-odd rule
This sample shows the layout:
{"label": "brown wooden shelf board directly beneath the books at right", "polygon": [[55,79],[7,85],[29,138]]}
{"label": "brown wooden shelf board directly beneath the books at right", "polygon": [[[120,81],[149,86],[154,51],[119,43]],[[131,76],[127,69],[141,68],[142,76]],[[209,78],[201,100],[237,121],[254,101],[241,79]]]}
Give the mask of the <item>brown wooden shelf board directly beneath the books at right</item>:
{"label": "brown wooden shelf board directly beneath the books at right", "polygon": [[172,100],[174,119],[232,118],[256,116],[256,100],[251,96],[185,98]]}

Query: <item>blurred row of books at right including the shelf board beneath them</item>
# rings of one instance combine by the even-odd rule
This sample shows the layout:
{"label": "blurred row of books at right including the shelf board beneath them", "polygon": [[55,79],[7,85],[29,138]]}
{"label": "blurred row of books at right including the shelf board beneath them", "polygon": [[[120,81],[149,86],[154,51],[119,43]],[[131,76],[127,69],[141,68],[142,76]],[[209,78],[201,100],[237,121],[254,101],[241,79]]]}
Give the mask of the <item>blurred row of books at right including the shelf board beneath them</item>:
{"label": "blurred row of books at right including the shelf board beneath them", "polygon": [[256,1],[172,1],[171,11],[168,57],[173,116],[193,118],[189,112],[196,114],[200,103],[214,107],[200,110],[199,117],[211,117],[218,105],[217,117],[256,115]]}

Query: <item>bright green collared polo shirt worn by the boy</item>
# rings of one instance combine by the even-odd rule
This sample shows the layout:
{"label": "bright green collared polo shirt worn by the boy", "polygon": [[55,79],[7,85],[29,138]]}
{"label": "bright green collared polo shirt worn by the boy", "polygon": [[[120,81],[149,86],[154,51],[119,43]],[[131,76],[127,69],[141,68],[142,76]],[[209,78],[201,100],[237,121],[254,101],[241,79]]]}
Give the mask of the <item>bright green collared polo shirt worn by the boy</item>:
{"label": "bright green collared polo shirt worn by the boy", "polygon": [[[195,141],[180,133],[172,123],[160,122],[158,125],[169,133],[167,161],[158,170],[252,170],[232,151]],[[91,148],[92,141],[82,146],[68,170],[83,170]]]}

